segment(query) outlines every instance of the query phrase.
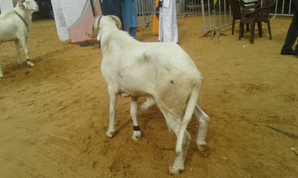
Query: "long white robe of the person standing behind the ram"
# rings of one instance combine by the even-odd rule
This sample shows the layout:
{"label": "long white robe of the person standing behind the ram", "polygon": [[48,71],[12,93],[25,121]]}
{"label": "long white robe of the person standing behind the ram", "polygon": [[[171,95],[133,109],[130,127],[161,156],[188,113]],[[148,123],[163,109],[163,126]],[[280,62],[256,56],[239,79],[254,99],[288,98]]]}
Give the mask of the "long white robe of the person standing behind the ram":
{"label": "long white robe of the person standing behind the ram", "polygon": [[158,40],[169,43],[178,42],[176,0],[163,0],[159,15]]}

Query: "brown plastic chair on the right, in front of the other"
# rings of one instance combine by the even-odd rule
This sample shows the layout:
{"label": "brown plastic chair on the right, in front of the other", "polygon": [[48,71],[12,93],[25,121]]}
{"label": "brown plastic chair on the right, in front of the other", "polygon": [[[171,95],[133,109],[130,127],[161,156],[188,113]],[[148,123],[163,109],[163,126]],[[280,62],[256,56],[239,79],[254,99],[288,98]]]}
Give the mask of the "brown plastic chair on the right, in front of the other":
{"label": "brown plastic chair on the right, in front of the other", "polygon": [[[274,5],[275,0],[263,0],[262,7],[260,8],[260,2],[254,6],[245,7],[241,11],[241,19],[240,19],[240,27],[239,27],[239,40],[241,40],[241,37],[243,37],[243,31],[244,31],[244,24],[250,24],[251,25],[251,31],[250,31],[250,44],[254,44],[254,36],[255,36],[255,23],[258,24],[258,31],[259,36],[262,37],[262,22],[267,23],[268,31],[269,31],[269,37],[270,40],[272,40],[271,37],[271,28],[270,28],[270,21],[269,21],[269,13],[270,8],[272,5]],[[247,11],[249,9],[255,8],[255,15],[247,17]]]}

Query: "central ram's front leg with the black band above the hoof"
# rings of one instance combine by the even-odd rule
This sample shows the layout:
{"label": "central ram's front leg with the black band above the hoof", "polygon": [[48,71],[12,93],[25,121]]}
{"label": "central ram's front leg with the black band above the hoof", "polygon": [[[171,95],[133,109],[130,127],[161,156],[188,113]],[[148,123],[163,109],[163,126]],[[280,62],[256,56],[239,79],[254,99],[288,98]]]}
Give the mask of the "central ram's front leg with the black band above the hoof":
{"label": "central ram's front leg with the black band above the hoof", "polygon": [[133,140],[140,140],[142,138],[140,126],[137,122],[137,106],[138,106],[138,98],[139,97],[131,97],[131,103],[130,103],[130,115],[133,119]]}

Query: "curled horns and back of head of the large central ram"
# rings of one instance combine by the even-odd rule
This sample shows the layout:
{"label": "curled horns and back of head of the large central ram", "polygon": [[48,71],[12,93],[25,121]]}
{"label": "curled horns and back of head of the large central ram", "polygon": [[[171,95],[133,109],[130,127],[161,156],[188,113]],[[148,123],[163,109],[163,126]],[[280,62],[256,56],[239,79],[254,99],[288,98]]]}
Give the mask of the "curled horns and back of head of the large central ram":
{"label": "curled horns and back of head of the large central ram", "polygon": [[119,30],[122,29],[121,21],[118,17],[116,17],[114,15],[96,16],[93,19],[92,34],[86,33],[86,35],[89,38],[96,38],[98,41],[100,40],[99,23],[100,23],[101,19],[104,21],[109,21],[108,23],[116,24]]}

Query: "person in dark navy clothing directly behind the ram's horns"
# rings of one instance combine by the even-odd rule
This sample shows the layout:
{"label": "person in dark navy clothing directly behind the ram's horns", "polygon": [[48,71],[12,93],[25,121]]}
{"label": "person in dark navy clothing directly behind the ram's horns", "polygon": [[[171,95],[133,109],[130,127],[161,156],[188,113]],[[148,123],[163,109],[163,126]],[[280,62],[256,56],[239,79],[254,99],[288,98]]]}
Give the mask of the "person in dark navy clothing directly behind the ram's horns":
{"label": "person in dark navy clothing directly behind the ram's horns", "polygon": [[122,0],[102,0],[102,15],[117,16],[121,21],[122,29],[124,29],[121,2]]}

